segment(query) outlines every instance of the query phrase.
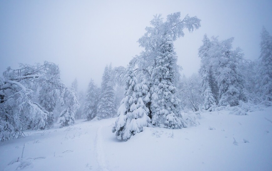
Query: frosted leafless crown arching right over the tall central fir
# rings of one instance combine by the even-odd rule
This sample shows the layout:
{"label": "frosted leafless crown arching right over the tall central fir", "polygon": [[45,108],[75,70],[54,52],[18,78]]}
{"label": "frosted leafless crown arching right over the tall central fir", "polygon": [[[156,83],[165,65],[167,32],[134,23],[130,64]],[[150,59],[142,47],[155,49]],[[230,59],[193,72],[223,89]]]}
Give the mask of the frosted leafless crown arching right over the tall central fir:
{"label": "frosted leafless crown arching right over the tall central fir", "polygon": [[[146,27],[146,33],[138,40],[139,46],[145,50],[140,53],[140,56],[136,56],[131,61],[137,63],[141,70],[148,70],[151,77],[153,77],[153,70],[156,65],[155,59],[159,55],[163,39],[169,38],[169,40],[175,41],[184,36],[183,29],[188,29],[189,32],[198,29],[200,21],[196,16],[189,17],[188,14],[184,19],[181,19],[180,12],[167,15],[165,22],[163,22],[161,14],[155,15],[154,19],[150,21],[152,26]],[[180,69],[178,65],[174,67],[176,67],[175,70]],[[179,75],[179,72],[176,72],[176,74]]]}

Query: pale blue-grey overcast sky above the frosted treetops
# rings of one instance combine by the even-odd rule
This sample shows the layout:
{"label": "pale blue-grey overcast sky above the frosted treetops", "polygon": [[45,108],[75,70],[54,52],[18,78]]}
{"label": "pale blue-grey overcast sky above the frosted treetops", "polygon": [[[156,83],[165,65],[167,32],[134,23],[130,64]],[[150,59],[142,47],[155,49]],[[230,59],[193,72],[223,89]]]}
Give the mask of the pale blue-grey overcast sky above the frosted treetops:
{"label": "pale blue-grey overcast sky above the frosted treetops", "polygon": [[137,40],[153,15],[181,12],[201,19],[201,27],[174,42],[182,74],[200,65],[203,35],[234,37],[245,58],[259,57],[260,31],[272,34],[271,0],[228,1],[0,1],[0,72],[18,63],[54,62],[70,86],[77,77],[86,90],[91,78],[100,85],[104,67],[126,66],[142,50]]}

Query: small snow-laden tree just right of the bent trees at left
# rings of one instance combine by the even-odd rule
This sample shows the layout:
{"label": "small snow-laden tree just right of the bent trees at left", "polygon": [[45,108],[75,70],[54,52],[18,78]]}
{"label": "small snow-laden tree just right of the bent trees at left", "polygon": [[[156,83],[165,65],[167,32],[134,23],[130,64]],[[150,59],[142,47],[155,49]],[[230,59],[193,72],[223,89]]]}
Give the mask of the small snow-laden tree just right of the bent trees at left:
{"label": "small snow-laden tree just right of the bent trees at left", "polygon": [[80,107],[77,92],[73,88],[65,88],[61,104],[63,110],[58,118],[60,127],[73,125],[75,123],[75,112]]}

